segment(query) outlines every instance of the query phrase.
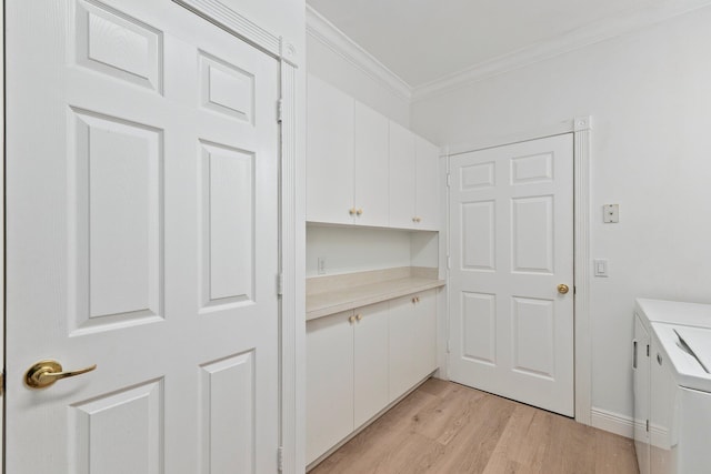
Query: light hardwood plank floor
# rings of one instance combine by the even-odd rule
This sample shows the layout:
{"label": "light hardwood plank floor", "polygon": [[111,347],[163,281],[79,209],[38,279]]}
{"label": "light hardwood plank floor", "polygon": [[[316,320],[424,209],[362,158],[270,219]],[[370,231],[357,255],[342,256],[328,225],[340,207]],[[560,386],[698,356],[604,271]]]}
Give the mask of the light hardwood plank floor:
{"label": "light hardwood plank floor", "polygon": [[631,440],[430,379],[311,474],[638,472]]}

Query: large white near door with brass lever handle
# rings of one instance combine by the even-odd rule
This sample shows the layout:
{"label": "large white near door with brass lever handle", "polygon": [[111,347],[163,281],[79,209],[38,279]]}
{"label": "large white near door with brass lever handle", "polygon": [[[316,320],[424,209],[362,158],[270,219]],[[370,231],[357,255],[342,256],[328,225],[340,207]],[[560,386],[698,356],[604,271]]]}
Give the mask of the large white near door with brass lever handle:
{"label": "large white near door with brass lever handle", "polygon": [[169,0],[6,9],[7,472],[277,472],[277,61]]}

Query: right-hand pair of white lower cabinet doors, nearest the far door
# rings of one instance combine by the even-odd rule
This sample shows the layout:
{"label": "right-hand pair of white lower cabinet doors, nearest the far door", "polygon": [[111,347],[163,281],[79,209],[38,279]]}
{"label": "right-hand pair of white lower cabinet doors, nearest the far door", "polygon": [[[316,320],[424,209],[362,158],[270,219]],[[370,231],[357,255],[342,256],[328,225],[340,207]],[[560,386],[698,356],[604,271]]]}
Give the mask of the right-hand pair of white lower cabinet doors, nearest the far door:
{"label": "right-hand pair of white lower cabinet doors, nearest the far door", "polygon": [[434,290],[390,302],[390,401],[437,369]]}

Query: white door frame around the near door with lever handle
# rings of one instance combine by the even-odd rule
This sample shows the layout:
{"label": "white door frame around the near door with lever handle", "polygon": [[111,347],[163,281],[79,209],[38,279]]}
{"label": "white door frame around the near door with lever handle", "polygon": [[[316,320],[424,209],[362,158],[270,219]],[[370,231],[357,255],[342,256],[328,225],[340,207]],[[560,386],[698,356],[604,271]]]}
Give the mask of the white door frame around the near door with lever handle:
{"label": "white door frame around the near door with lever handle", "polygon": [[[283,37],[274,34],[241,13],[224,6],[219,0],[172,0],[199,17],[204,18],[217,27],[234,37],[248,42],[263,53],[279,62],[279,456],[280,472],[297,473],[304,470],[304,416],[303,410],[298,410],[304,403],[304,264],[298,259],[298,249],[303,249],[306,230],[303,215],[304,200],[298,190],[303,186],[302,170],[299,162],[303,161],[303,150],[299,132],[303,130],[301,120],[303,101],[303,73],[299,71],[300,53],[294,46]],[[0,305],[3,323],[7,317],[4,311],[4,165],[6,165],[6,109],[4,109],[4,3],[0,8],[0,24],[3,34],[0,36],[0,147],[2,147],[3,165],[0,167],[0,219],[3,232],[0,232]],[[0,364],[4,375],[4,324],[0,325]],[[4,381],[0,384],[0,395],[4,389]],[[4,400],[0,410],[0,456],[4,458]],[[4,472],[4,465],[2,466]]]}

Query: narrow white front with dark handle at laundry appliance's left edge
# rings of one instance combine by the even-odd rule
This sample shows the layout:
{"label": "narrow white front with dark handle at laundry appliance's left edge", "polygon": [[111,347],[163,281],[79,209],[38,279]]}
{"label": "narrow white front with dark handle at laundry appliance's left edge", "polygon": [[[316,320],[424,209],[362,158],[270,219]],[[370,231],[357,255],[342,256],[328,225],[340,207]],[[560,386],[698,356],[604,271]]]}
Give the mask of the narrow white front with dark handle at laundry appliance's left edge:
{"label": "narrow white front with dark handle at laundry appliance's left edge", "polygon": [[640,474],[649,474],[649,417],[650,417],[650,359],[649,333],[640,317],[634,315],[634,340],[632,341],[632,373],[634,391],[634,451]]}

